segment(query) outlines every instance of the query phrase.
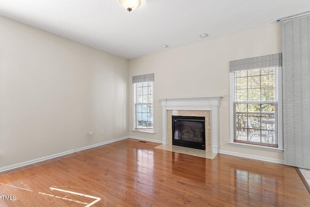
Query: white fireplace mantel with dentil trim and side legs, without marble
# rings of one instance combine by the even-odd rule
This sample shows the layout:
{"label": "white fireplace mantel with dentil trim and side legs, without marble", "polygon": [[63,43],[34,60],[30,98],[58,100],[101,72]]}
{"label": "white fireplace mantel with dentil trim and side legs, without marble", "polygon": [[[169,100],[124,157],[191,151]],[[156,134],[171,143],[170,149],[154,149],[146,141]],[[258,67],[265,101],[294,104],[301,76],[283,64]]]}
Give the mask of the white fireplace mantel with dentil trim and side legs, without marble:
{"label": "white fireplace mantel with dentil trim and side legs, without marble", "polygon": [[218,105],[222,96],[159,98],[162,106],[163,144],[167,144],[167,110],[211,111],[211,150],[218,153]]}

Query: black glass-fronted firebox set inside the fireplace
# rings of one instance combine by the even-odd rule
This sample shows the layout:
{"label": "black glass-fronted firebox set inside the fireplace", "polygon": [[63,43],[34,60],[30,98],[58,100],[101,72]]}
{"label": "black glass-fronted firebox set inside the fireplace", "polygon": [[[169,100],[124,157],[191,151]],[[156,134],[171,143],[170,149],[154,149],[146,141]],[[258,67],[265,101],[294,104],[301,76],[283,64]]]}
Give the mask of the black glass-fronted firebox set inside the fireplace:
{"label": "black glass-fronted firebox set inside the fireplace", "polygon": [[172,144],[205,150],[205,117],[172,116]]}

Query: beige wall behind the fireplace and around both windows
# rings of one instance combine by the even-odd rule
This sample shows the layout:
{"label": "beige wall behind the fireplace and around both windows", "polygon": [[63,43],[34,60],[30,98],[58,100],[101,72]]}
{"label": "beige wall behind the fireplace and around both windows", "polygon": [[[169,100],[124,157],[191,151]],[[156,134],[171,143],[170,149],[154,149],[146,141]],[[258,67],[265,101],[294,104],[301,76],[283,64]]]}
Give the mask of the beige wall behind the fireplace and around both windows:
{"label": "beige wall behind the fireplace and around both windows", "polygon": [[[165,50],[129,60],[129,83],[132,76],[155,73],[155,98],[221,96],[223,89],[229,92],[229,61],[281,52],[280,24],[270,24],[218,38]],[[160,47],[160,46],[158,46]],[[132,87],[129,88],[129,111],[132,111]],[[219,150],[283,160],[282,152],[262,151],[232,146],[224,142],[230,136],[229,94],[220,100]],[[159,107],[156,107],[159,104]],[[154,135],[130,131],[131,136],[162,139],[162,115],[159,100],[155,100]],[[129,112],[129,128],[132,128],[132,112]],[[156,131],[156,130],[155,130]]]}

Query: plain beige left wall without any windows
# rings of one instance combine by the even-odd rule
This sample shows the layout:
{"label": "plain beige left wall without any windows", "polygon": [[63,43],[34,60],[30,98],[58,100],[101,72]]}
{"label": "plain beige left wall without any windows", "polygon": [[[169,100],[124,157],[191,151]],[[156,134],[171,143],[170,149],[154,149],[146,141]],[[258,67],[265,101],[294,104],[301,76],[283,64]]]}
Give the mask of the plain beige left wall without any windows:
{"label": "plain beige left wall without any windows", "polygon": [[0,167],[128,136],[128,60],[0,25]]}

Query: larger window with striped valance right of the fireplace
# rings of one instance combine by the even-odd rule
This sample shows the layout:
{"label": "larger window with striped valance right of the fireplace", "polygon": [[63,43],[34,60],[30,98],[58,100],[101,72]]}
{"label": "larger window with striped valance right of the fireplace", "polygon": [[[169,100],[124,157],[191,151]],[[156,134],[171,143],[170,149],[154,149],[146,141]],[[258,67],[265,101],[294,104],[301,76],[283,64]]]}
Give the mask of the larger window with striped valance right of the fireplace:
{"label": "larger window with striped valance right of the fireplace", "polygon": [[280,55],[231,62],[234,143],[279,147]]}

